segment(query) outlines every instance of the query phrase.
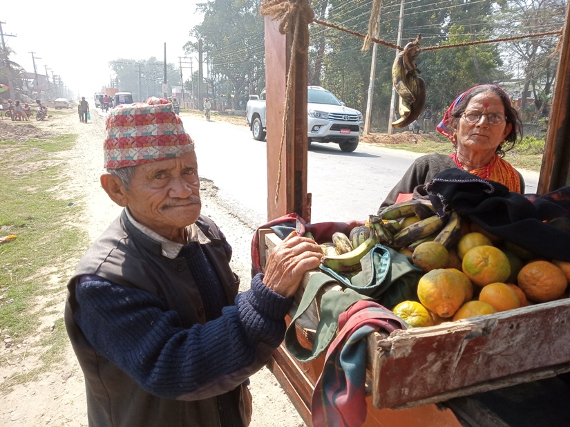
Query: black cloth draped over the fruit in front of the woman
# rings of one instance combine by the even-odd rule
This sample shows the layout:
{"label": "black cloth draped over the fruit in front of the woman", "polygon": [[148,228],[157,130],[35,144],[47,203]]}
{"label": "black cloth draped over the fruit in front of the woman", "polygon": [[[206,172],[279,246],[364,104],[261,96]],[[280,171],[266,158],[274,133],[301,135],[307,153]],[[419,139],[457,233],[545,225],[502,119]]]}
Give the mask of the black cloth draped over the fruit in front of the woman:
{"label": "black cloth draped over the fruit in front of the woman", "polygon": [[570,262],[570,231],[549,224],[570,218],[570,187],[544,196],[519,194],[466,171],[446,169],[426,184],[426,191],[440,217],[455,210],[535,255]]}

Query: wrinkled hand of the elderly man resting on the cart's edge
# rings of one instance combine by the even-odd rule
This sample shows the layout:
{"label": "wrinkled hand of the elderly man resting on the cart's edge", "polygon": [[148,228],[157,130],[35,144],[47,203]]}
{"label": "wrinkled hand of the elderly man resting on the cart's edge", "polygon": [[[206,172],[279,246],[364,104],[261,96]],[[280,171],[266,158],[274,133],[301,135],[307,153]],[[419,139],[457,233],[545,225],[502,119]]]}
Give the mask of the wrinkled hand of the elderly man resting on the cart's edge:
{"label": "wrinkled hand of the elderly man resting on the cart's edge", "polygon": [[297,236],[293,231],[269,254],[263,283],[289,298],[295,294],[305,272],[319,267],[321,258],[323,250],[314,240]]}

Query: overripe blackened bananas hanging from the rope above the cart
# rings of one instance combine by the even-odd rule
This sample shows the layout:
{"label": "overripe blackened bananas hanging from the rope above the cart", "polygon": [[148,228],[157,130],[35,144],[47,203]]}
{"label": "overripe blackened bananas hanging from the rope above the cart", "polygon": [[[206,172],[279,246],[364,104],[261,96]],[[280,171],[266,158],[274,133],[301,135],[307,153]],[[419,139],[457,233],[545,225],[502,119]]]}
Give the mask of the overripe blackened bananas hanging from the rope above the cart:
{"label": "overripe blackened bananas hanging from the rope above the cart", "polygon": [[419,41],[421,35],[406,44],[392,64],[392,84],[399,96],[398,112],[401,115],[392,122],[395,128],[408,126],[419,117],[426,105],[426,82],[417,76],[420,71],[415,64],[419,56]]}

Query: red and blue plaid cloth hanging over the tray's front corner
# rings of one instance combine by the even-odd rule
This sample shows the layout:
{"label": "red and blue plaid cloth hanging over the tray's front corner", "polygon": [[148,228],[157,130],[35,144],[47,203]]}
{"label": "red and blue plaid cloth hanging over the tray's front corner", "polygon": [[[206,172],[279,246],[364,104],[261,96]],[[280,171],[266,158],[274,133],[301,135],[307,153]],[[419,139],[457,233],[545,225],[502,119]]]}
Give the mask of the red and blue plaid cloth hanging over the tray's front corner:
{"label": "red and blue plaid cloth hanging over the tray's front corner", "polygon": [[406,329],[399,317],[373,301],[358,301],[339,316],[311,402],[313,426],[361,426],[366,419],[366,336]]}

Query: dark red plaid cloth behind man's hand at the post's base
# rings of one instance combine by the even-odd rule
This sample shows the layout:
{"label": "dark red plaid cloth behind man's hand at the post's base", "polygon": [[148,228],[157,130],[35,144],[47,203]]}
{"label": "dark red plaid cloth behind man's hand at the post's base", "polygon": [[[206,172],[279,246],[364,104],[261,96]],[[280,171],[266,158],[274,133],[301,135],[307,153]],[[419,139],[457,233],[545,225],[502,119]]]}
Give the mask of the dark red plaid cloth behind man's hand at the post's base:
{"label": "dark red plaid cloth behind man's hand at the post's base", "polygon": [[270,228],[281,239],[284,239],[292,231],[296,231],[299,236],[303,236],[309,232],[313,235],[318,243],[330,242],[332,234],[335,231],[341,231],[348,236],[350,230],[358,225],[363,225],[362,221],[348,221],[348,222],[318,222],[316,224],[307,224],[301,216],[294,212],[275,218],[261,225],[256,229],[254,238],[251,240],[251,273],[255,276],[262,272],[259,256],[259,229]]}

